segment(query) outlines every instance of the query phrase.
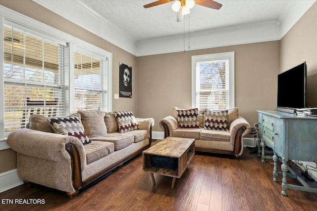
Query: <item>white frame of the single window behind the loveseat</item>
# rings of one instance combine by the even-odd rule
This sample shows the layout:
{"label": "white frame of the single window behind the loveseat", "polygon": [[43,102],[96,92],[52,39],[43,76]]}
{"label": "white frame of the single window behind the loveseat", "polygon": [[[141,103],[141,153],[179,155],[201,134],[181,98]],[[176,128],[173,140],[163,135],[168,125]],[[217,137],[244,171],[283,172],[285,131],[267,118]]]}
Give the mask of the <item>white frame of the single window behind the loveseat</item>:
{"label": "white frame of the single window behind the loveseat", "polygon": [[234,98],[234,51],[192,56],[192,108],[196,108],[196,63],[202,61],[229,60],[229,102],[227,109],[235,106]]}

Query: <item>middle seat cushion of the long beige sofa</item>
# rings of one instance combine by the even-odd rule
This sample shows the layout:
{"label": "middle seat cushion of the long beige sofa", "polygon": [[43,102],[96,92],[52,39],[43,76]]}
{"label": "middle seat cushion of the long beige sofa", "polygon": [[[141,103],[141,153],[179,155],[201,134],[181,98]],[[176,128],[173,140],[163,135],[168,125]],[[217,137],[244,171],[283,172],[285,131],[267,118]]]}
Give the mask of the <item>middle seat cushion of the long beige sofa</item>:
{"label": "middle seat cushion of the long beige sofa", "polygon": [[131,145],[134,142],[134,135],[122,133],[107,133],[91,138],[92,141],[108,141],[114,143],[114,151]]}

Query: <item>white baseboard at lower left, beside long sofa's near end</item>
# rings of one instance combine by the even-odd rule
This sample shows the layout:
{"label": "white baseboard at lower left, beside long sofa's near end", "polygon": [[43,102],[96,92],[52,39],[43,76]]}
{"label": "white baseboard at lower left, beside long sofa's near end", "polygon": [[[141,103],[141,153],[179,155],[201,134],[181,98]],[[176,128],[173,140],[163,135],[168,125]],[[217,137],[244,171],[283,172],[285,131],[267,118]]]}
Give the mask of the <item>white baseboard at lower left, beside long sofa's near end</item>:
{"label": "white baseboard at lower left, beside long sofa's near end", "polygon": [[0,173],[0,193],[22,184],[23,180],[19,177],[17,169],[12,169]]}

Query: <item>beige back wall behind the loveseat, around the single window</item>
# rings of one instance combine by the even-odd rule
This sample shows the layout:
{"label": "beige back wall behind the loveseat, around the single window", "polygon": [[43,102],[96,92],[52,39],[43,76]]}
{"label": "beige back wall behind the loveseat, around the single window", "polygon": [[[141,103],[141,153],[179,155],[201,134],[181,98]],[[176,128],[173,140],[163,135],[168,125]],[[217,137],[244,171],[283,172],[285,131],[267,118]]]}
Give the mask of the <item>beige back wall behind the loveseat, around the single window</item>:
{"label": "beige back wall behind the loveseat, around the single window", "polygon": [[172,108],[191,108],[191,56],[235,52],[235,106],[253,125],[257,110],[276,108],[279,41],[241,44],[178,53],[141,56],[138,61],[138,114],[159,120]]}

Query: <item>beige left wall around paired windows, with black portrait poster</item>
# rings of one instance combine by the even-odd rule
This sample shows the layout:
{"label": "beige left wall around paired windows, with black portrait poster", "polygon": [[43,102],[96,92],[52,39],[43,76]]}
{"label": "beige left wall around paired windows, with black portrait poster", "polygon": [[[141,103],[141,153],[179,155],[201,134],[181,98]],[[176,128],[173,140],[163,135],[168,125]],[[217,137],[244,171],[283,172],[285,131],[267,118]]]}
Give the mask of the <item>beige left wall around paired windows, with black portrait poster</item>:
{"label": "beige left wall around paired windows, with black portrait poster", "polygon": [[[62,18],[32,0],[1,0],[0,4],[112,53],[112,110],[130,110],[137,115],[136,56]],[[132,99],[113,99],[113,94],[119,93],[119,62],[132,66]],[[15,169],[15,163],[16,153],[13,150],[0,151],[0,173]]]}

